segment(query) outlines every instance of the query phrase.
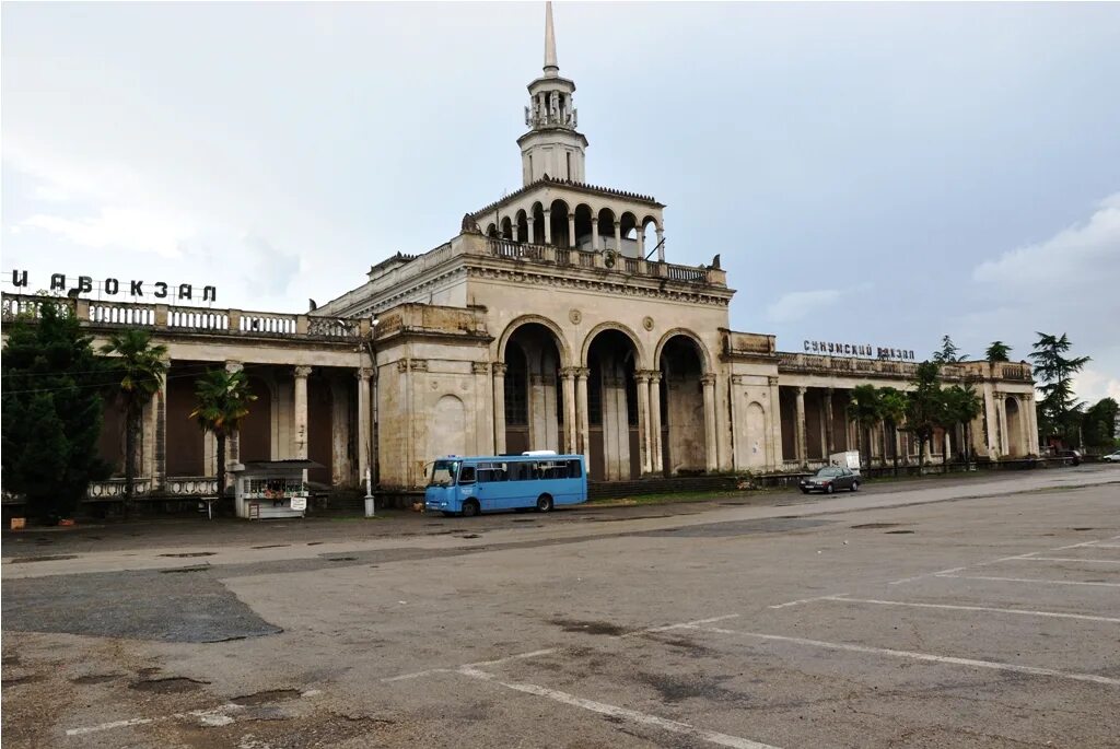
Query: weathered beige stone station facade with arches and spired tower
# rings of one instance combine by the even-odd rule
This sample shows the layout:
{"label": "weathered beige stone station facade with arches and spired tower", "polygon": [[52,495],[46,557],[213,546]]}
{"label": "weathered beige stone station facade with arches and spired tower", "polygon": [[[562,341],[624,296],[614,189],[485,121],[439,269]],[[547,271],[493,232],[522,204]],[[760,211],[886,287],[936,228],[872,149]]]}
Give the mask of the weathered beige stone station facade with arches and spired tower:
{"label": "weathered beige stone station facade with arches and spired tower", "polygon": [[[719,256],[668,262],[664,205],[585,181],[575,91],[549,7],[517,141],[521,189],[308,313],[76,300],[96,338],[143,327],[169,348],[138,446],[143,490],[213,490],[214,440],[188,416],[194,378],[211,366],[243,368],[258,395],[231,465],[309,458],[323,466],[310,479],[334,487],[368,471],[382,488],[413,488],[442,455],[552,449],[587,456],[592,480],[628,480],[800,470],[857,449],[851,390],[909,390],[917,365],[846,344],[784,353],[773,335],[731,330]],[[36,303],[4,294],[3,313]],[[1038,453],[1029,365],[965,362],[942,376],[982,395],[973,455]],[[961,438],[950,436],[951,458]],[[103,453],[122,464],[122,442],[110,405]],[[870,443],[874,462],[917,460],[905,432]],[[928,458],[942,446],[939,436]]]}

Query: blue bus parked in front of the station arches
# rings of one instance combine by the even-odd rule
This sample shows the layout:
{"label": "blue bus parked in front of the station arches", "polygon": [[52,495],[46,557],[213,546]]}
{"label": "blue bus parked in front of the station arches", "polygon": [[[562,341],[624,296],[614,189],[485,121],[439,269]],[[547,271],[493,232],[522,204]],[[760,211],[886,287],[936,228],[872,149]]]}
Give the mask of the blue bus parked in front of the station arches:
{"label": "blue bus parked in front of the station arches", "polygon": [[495,509],[547,513],[557,505],[587,502],[584,456],[550,451],[520,456],[460,458],[429,464],[424,509],[473,517]]}

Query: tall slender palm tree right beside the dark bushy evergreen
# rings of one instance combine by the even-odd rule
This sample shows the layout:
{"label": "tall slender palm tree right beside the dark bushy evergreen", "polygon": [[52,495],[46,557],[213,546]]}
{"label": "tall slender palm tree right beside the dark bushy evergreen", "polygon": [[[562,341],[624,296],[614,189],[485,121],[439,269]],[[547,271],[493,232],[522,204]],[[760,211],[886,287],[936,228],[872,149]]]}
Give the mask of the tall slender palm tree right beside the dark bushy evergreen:
{"label": "tall slender palm tree right beside the dark bushy evergreen", "polygon": [[112,359],[112,369],[120,377],[116,384],[124,402],[124,512],[131,508],[132,484],[136,480],[136,443],[140,433],[143,406],[159,392],[167,376],[167,346],[152,344],[147,330],[124,330],[109,337],[101,353]]}

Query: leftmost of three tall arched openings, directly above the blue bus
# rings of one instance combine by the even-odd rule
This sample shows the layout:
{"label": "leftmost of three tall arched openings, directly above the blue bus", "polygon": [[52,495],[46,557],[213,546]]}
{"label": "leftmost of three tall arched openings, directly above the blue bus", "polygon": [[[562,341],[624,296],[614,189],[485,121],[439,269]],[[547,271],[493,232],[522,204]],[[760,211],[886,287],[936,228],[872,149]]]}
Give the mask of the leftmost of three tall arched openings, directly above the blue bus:
{"label": "leftmost of three tall arched openings, directly above the blue bus", "polygon": [[526,322],[505,346],[505,451],[557,450],[563,444],[560,347],[540,322]]}

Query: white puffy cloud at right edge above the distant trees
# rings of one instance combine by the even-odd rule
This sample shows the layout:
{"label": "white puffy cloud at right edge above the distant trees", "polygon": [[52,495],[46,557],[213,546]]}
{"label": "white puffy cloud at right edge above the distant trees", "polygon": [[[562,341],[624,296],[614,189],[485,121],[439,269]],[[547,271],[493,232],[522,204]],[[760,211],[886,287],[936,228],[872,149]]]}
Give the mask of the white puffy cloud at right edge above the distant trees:
{"label": "white puffy cloud at right edge above the distant trees", "polygon": [[1039,244],[1005,252],[981,263],[972,279],[1023,292],[1068,288],[1120,273],[1120,193],[1098,204],[1089,221]]}

